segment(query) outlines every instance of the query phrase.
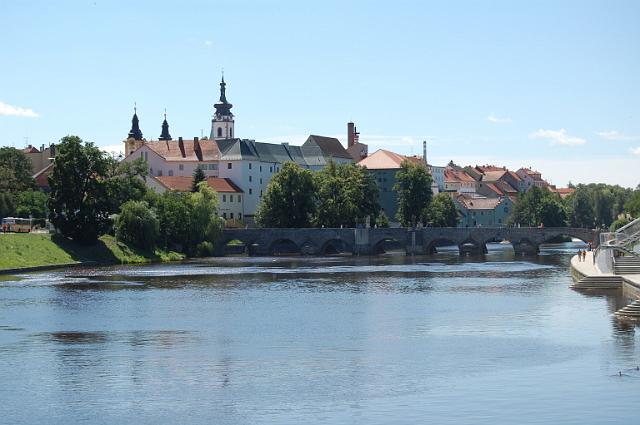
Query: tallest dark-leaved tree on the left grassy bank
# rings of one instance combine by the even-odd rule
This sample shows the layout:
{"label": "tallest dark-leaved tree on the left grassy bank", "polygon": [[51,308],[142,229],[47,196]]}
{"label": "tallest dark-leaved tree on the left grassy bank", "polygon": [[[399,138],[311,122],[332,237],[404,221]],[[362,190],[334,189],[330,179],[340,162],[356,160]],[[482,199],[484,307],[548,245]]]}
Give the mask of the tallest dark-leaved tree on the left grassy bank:
{"label": "tallest dark-leaved tree on the left grassy bank", "polygon": [[49,176],[49,219],[79,243],[95,243],[109,222],[105,185],[108,161],[93,143],[77,136],[60,140]]}

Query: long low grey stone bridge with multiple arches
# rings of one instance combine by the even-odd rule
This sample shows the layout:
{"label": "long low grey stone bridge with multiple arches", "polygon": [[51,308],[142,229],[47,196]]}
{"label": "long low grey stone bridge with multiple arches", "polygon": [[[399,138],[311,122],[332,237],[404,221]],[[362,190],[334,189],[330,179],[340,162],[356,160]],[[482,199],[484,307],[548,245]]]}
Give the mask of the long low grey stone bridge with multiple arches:
{"label": "long low grey stone bridge with multiple arches", "polygon": [[[537,254],[540,245],[558,236],[570,236],[598,244],[600,231],[571,227],[428,227],[423,229],[225,229],[217,255],[246,253],[268,256],[300,253],[325,255],[336,252],[376,255],[390,247],[407,254],[432,254],[437,247],[456,245],[461,254],[487,252],[486,244],[509,241],[516,254]],[[229,244],[229,242],[232,244]],[[239,241],[239,242],[238,242]]]}

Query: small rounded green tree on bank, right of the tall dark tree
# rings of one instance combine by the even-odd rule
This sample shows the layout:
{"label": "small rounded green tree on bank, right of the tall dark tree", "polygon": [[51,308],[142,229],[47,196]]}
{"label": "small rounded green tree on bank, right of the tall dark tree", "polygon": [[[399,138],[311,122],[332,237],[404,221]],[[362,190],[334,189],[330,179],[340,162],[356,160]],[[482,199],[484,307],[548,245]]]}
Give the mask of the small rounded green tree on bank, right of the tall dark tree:
{"label": "small rounded green tree on bank, right of the tall dark tree", "polygon": [[151,250],[158,240],[160,224],[144,201],[122,204],[114,223],[116,238],[135,247]]}

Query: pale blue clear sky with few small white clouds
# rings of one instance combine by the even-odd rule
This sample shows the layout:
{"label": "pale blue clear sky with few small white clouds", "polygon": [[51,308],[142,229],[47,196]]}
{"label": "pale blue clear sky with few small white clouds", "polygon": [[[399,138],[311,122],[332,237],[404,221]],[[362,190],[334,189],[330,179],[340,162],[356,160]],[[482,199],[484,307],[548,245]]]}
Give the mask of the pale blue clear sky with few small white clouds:
{"label": "pale blue clear sky with few small white clouds", "polygon": [[0,145],[235,134],[640,183],[638,1],[0,0]]}

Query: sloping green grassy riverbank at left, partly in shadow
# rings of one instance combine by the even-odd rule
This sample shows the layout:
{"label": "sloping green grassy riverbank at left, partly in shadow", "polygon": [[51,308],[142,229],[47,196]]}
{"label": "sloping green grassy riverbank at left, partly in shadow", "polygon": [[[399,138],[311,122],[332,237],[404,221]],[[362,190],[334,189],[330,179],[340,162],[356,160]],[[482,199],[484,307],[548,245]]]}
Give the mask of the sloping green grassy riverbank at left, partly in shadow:
{"label": "sloping green grassy riverbank at left, partly in shadow", "polygon": [[72,263],[137,264],[183,259],[182,254],[145,251],[102,236],[93,246],[78,245],[59,235],[0,234],[0,271]]}

